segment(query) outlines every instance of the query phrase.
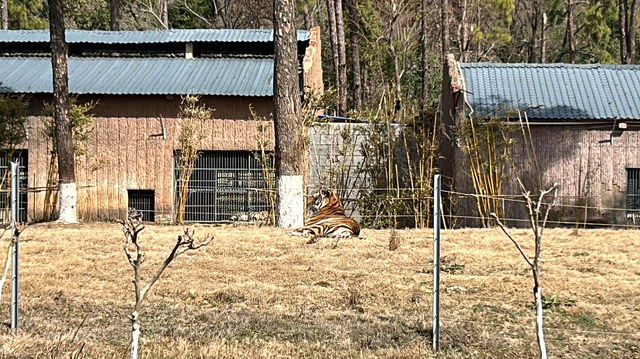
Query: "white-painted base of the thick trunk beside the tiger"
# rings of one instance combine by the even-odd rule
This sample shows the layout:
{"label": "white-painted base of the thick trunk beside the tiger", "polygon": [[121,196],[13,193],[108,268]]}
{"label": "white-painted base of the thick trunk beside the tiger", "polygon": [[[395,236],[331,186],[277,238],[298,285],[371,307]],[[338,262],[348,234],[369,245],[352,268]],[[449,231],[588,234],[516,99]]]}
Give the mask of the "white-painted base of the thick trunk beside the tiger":
{"label": "white-painted base of the thick trunk beside the tiger", "polygon": [[302,176],[278,178],[278,227],[299,228],[304,225]]}

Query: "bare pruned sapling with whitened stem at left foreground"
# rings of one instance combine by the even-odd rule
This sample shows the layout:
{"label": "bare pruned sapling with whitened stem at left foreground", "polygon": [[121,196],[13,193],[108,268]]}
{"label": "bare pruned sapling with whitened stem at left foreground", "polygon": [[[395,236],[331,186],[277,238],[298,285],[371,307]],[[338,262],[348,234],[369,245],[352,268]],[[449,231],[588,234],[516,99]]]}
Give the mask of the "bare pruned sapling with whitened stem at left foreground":
{"label": "bare pruned sapling with whitened stem at left foreground", "polygon": [[130,359],[136,359],[138,357],[138,343],[140,339],[140,309],[144,299],[146,298],[151,287],[160,279],[162,273],[167,269],[169,264],[187,251],[195,251],[201,247],[209,244],[213,237],[206,236],[203,240],[196,240],[194,238],[194,231],[188,228],[184,230],[183,235],[179,235],[176,240],[176,244],[173,246],[171,252],[165,260],[160,264],[155,274],[149,281],[143,283],[140,272],[142,263],[145,261],[145,255],[142,251],[142,247],[139,242],[139,234],[144,229],[142,225],[142,213],[132,209],[127,215],[127,219],[120,221],[122,225],[122,231],[124,232],[125,243],[124,253],[127,256],[127,261],[133,268],[133,288],[136,296],[136,303],[131,312],[129,319],[131,320],[131,351],[129,354]]}

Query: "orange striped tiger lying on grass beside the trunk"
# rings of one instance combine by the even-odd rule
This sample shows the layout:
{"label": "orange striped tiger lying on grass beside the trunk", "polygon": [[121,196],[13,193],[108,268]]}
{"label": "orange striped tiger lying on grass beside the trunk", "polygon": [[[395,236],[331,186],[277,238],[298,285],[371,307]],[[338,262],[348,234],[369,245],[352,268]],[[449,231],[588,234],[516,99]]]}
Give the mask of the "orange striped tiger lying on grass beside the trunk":
{"label": "orange striped tiger lying on grass beside the trunk", "polygon": [[331,190],[321,190],[311,199],[309,206],[312,215],[305,226],[292,232],[299,236],[314,237],[357,237],[360,225],[344,214],[344,208],[338,196]]}

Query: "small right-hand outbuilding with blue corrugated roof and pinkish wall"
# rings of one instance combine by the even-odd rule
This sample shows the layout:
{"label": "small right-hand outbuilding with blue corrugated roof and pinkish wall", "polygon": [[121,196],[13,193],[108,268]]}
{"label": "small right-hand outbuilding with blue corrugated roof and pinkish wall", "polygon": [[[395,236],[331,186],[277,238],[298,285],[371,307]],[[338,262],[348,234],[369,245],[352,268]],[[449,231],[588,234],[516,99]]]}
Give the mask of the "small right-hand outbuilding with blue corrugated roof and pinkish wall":
{"label": "small right-hand outbuilding with blue corrugated roof and pinkish wall", "polygon": [[[489,197],[512,225],[528,219],[516,177],[532,193],[558,183],[557,224],[640,220],[640,66],[461,63],[450,55],[443,79],[449,140],[441,144],[442,170],[457,194],[451,210],[463,222],[482,221],[478,199]],[[470,160],[464,128],[482,121],[494,121],[496,134],[513,140],[495,147],[507,147],[494,156],[504,165],[494,173],[499,193],[472,176],[474,168],[496,167],[480,135],[485,143],[475,146],[484,161]]]}

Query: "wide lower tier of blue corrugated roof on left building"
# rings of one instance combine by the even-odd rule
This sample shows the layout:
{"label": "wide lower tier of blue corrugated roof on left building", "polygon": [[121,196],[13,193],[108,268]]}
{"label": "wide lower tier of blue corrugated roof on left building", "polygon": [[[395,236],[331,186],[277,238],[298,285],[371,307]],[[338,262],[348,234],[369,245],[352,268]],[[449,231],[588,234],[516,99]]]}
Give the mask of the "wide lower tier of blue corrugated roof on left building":
{"label": "wide lower tier of blue corrugated roof on left building", "polygon": [[[52,88],[49,58],[0,57],[0,92]],[[273,59],[69,58],[69,92],[273,96]]]}

